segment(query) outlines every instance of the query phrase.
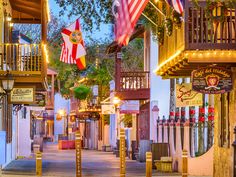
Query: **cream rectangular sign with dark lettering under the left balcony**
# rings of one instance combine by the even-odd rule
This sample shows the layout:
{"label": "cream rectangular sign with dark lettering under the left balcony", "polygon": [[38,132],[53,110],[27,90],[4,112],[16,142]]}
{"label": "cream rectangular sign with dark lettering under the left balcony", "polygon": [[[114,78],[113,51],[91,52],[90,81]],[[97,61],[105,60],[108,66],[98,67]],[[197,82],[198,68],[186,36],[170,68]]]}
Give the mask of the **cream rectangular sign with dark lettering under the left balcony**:
{"label": "cream rectangular sign with dark lettering under the left balcony", "polygon": [[12,104],[30,104],[34,103],[34,87],[16,87],[13,88],[10,95]]}

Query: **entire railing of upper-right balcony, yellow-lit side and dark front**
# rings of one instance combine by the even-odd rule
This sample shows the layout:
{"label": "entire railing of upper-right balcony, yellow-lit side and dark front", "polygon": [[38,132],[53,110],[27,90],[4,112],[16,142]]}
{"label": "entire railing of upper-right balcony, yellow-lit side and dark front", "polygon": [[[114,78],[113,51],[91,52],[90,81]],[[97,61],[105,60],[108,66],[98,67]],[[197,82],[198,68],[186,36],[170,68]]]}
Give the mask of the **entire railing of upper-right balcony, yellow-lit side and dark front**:
{"label": "entire railing of upper-right balcony, yellow-lit side and dark front", "polygon": [[[184,20],[180,29],[173,29],[171,36],[164,36],[159,48],[159,63],[186,50],[236,49],[236,7],[224,11],[217,7],[206,11],[206,1],[185,0]],[[224,13],[224,18],[222,13]],[[160,19],[163,17],[160,15]]]}

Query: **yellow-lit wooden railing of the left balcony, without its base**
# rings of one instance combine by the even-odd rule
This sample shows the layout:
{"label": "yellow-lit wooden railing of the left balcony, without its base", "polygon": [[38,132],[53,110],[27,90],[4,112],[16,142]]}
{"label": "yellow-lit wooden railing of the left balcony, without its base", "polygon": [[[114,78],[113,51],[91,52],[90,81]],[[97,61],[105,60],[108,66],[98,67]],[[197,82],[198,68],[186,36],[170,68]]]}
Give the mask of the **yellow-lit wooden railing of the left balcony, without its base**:
{"label": "yellow-lit wooden railing of the left balcony, without its base", "polygon": [[0,71],[41,74],[41,44],[0,44]]}

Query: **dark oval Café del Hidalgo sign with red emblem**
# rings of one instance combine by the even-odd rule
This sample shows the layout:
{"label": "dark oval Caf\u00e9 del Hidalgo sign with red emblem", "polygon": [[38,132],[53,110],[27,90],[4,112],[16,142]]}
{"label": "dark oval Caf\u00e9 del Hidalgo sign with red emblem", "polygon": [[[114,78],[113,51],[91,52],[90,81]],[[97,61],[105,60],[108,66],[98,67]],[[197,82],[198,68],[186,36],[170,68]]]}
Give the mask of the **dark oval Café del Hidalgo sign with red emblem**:
{"label": "dark oval Caf\u00e9 del Hidalgo sign with red emblem", "polygon": [[222,94],[233,89],[232,72],[220,67],[205,67],[192,72],[193,90],[204,94]]}

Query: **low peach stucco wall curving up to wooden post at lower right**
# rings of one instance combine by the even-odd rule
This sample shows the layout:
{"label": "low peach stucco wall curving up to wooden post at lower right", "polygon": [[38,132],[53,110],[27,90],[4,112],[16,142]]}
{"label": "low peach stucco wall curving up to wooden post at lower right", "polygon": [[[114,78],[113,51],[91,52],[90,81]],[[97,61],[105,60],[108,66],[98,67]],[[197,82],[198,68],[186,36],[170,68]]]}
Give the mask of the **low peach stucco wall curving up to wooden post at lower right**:
{"label": "low peach stucco wall curving up to wooden post at lower right", "polygon": [[188,173],[196,176],[213,175],[213,147],[199,157],[188,158]]}

